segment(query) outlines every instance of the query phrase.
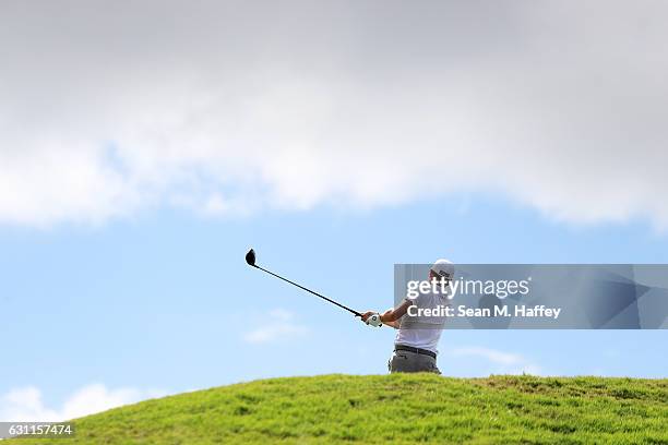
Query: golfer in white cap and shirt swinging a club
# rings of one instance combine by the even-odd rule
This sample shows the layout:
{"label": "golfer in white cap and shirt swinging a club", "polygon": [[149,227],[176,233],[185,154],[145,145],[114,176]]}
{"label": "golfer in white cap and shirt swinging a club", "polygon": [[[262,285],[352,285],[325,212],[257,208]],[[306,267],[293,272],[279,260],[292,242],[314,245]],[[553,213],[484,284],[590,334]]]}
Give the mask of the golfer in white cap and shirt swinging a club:
{"label": "golfer in white cap and shirt swinging a club", "polygon": [[[437,345],[445,318],[442,316],[410,316],[406,315],[408,308],[416,305],[419,309],[436,309],[448,305],[450,281],[454,276],[454,265],[448,260],[439,260],[429,269],[429,280],[445,280],[445,289],[441,292],[418,293],[417,297],[405,298],[396,308],[390,309],[381,315],[381,322],[397,329],[394,340],[394,351],[387,362],[390,372],[433,372],[440,374],[437,366]],[[362,314],[362,321],[375,314],[368,311]]]}

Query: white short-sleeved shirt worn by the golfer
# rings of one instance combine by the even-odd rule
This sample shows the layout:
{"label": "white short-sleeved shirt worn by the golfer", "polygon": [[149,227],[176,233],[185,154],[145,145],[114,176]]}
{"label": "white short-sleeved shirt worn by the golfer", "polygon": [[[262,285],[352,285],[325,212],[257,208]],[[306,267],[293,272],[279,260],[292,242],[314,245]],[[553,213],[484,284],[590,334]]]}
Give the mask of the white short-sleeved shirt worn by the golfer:
{"label": "white short-sleeved shirt worn by the golfer", "polygon": [[[450,302],[446,293],[431,292],[420,293],[414,298],[407,297],[406,300],[420,309],[436,309],[439,305],[448,305]],[[438,353],[437,345],[441,338],[444,323],[444,316],[409,316],[405,314],[399,318],[399,328],[396,332],[394,344],[427,349]]]}

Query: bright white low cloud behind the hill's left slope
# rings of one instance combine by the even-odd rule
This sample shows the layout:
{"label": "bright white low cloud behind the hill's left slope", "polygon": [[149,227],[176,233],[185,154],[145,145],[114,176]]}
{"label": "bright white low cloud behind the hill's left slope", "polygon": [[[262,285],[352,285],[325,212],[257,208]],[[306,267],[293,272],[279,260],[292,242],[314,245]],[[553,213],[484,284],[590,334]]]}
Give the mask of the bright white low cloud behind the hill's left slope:
{"label": "bright white low cloud behind the hill's left slope", "polygon": [[57,408],[44,404],[38,388],[26,386],[0,395],[0,421],[64,421],[165,394],[162,390],[112,389],[102,384],[92,384],[74,392]]}

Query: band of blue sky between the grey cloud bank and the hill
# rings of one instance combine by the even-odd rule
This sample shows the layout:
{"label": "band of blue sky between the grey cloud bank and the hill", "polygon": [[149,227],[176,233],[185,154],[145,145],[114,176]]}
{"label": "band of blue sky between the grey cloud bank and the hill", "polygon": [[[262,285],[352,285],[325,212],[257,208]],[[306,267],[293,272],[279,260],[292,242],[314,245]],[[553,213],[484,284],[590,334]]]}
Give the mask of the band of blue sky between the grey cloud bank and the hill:
{"label": "band of blue sky between the grey cloud bank and the hill", "polygon": [[[272,269],[382,310],[392,304],[393,263],[661,263],[668,241],[643,221],[570,227],[503,200],[453,195],[375,212],[212,219],[165,211],[94,228],[4,227],[0,246],[0,334],[11,358],[0,394],[37,387],[58,407],[94,383],[143,395],[386,372],[391,329],[249,268],[249,246]],[[439,347],[446,375],[661,377],[668,369],[661,330],[460,330]]]}

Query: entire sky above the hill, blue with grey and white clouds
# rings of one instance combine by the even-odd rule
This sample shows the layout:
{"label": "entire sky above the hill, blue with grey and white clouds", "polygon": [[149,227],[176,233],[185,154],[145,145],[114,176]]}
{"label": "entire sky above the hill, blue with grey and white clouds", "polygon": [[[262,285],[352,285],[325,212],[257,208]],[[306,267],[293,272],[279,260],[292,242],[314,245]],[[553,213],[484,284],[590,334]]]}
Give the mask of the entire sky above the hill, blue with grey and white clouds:
{"label": "entire sky above the hill, blue with grey and white clouds", "polygon": [[[0,5],[0,420],[382,374],[393,264],[666,263],[661,1]],[[655,332],[443,334],[445,375],[666,377]]]}

